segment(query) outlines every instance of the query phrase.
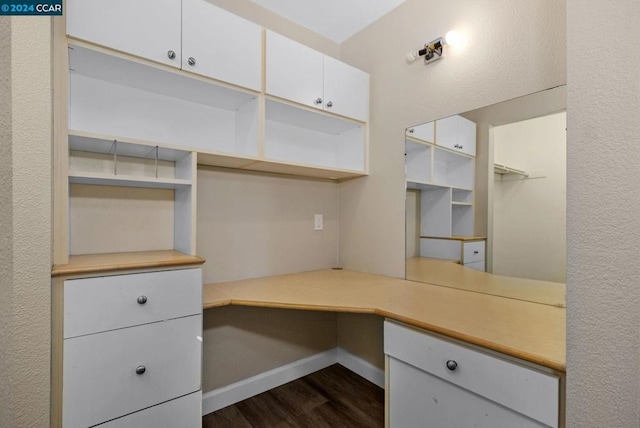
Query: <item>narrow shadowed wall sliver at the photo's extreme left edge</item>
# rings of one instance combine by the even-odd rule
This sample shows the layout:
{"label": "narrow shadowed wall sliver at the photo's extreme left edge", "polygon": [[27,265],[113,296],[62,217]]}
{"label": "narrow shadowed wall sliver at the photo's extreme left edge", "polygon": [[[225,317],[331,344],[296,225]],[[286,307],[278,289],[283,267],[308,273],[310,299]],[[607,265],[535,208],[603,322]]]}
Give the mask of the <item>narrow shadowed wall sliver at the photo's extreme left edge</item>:
{"label": "narrow shadowed wall sliver at the photo's extreme left edge", "polygon": [[11,147],[11,18],[0,17],[0,426],[13,422],[11,400],[11,300],[13,295],[13,194]]}

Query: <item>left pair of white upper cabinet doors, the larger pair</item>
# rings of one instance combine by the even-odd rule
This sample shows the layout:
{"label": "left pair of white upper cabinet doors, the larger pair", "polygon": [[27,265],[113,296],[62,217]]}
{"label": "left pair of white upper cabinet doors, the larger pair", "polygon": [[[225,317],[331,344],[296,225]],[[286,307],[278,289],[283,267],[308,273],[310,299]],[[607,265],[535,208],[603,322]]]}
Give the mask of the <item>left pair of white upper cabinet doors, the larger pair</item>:
{"label": "left pair of white upper cabinet doors, the larger pair", "polygon": [[262,29],[205,0],[68,0],[67,33],[261,89]]}

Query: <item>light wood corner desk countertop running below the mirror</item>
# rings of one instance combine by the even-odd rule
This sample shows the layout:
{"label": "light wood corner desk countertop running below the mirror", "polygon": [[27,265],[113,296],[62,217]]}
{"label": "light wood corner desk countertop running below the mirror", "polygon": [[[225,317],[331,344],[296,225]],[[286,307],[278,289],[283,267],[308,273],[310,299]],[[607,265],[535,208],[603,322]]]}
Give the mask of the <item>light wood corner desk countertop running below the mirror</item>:
{"label": "light wood corner desk countertop running below the mirror", "polygon": [[[446,262],[445,262],[446,263]],[[564,372],[565,308],[349,270],[204,286],[225,305],[377,314]]]}

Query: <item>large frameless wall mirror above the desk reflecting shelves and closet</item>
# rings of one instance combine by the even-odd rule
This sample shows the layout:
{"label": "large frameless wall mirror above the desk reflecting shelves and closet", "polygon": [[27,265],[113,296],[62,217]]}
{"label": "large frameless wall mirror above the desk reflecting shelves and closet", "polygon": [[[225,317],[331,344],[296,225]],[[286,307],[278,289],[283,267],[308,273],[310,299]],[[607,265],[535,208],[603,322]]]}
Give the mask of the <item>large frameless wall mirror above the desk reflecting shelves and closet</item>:
{"label": "large frameless wall mirror above the desk reflecting shelves and closet", "polygon": [[566,87],[405,135],[406,279],[565,306]]}

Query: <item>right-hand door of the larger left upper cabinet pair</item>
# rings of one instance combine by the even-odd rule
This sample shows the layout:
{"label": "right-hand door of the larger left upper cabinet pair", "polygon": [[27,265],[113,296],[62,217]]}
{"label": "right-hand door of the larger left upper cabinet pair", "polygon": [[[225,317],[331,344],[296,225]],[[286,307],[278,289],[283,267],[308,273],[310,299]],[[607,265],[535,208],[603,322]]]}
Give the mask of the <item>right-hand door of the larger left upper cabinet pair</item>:
{"label": "right-hand door of the larger left upper cabinet pair", "polygon": [[205,0],[182,0],[184,70],[259,91],[261,52],[258,25]]}

